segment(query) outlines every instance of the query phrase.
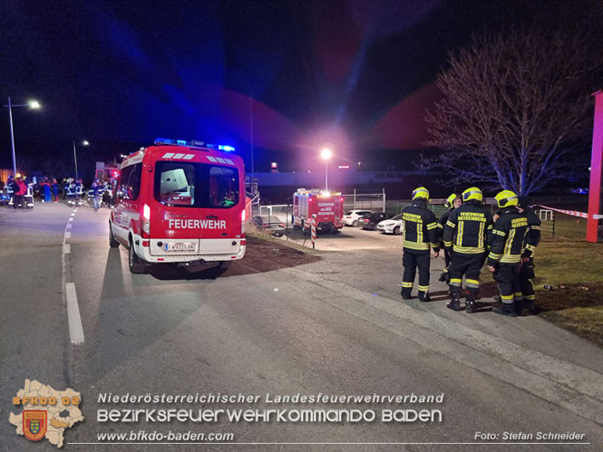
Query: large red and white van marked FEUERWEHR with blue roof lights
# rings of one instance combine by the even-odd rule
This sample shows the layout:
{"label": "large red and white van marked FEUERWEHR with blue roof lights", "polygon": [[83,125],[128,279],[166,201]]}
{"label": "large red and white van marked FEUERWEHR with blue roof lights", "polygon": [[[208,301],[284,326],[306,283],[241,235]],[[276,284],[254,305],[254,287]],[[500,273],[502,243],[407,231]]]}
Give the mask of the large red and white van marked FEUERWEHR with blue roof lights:
{"label": "large red and white van marked FEUERWEHR with blue roof lights", "polygon": [[156,139],[122,163],[109,245],[131,273],[149,264],[227,268],[245,255],[243,159],[229,146]]}

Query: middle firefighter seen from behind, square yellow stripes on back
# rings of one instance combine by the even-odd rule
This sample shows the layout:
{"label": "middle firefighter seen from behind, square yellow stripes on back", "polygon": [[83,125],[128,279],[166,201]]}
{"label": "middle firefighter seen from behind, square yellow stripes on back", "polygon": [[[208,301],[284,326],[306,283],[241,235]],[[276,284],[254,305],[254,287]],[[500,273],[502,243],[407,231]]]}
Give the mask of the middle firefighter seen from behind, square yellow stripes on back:
{"label": "middle firefighter seen from behind, square yellow stripes on back", "polygon": [[450,303],[447,308],[461,311],[462,276],[465,276],[465,311],[477,311],[480,271],[492,230],[491,213],[481,207],[483,195],[477,187],[462,192],[462,206],[455,208],[444,227],[444,246],[452,253],[450,263]]}

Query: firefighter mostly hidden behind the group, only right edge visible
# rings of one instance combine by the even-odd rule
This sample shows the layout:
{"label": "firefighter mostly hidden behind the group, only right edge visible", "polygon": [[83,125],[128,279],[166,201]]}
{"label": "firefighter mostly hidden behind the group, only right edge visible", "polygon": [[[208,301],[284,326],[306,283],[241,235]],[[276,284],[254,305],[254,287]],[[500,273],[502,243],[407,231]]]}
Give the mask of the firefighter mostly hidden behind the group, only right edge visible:
{"label": "firefighter mostly hidden behind the group, only right edge visible", "polygon": [[528,205],[526,197],[518,197],[518,210],[528,218],[528,232],[523,241],[521,254],[520,286],[524,307],[530,314],[536,313],[536,293],[534,292],[534,252],[540,243],[540,218]]}

